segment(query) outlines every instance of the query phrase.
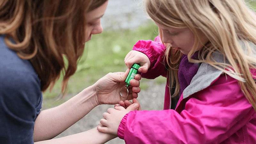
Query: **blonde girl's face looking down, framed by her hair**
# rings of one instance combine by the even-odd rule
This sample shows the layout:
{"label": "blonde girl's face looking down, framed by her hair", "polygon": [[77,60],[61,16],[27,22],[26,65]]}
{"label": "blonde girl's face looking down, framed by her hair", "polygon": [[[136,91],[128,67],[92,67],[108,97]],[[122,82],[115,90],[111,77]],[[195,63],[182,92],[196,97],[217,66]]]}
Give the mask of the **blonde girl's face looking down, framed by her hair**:
{"label": "blonde girl's face looking down, framed by her hair", "polygon": [[[189,28],[170,28],[157,22],[156,25],[162,30],[163,43],[171,44],[173,48],[180,50],[180,52],[186,55],[193,48],[195,36]],[[199,37],[203,44],[208,42],[207,37],[202,32],[199,32]]]}

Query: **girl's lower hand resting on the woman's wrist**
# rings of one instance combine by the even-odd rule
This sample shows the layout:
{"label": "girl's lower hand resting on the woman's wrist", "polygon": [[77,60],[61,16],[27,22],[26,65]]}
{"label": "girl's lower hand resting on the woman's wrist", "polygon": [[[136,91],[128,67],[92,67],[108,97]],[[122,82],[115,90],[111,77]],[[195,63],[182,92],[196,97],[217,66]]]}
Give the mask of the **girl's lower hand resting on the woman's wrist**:
{"label": "girl's lower hand resting on the woman's wrist", "polygon": [[100,124],[97,126],[97,129],[100,132],[117,135],[117,129],[123,117],[130,111],[138,110],[140,108],[138,100],[133,99],[132,101],[133,103],[126,109],[122,106],[115,106],[115,109],[108,108],[108,112],[103,113],[104,119],[100,120]]}

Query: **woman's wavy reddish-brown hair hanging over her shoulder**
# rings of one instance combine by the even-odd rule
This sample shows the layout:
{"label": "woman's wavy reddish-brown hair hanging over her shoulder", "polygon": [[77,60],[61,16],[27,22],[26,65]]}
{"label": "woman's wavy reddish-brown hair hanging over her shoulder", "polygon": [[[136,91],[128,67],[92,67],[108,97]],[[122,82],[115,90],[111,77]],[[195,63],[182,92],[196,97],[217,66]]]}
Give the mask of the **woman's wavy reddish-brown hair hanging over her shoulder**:
{"label": "woman's wavy reddish-brown hair hanging over her shoulder", "polygon": [[84,51],[85,14],[106,1],[1,0],[0,35],[21,59],[31,62],[42,91],[52,87],[63,71],[64,92]]}

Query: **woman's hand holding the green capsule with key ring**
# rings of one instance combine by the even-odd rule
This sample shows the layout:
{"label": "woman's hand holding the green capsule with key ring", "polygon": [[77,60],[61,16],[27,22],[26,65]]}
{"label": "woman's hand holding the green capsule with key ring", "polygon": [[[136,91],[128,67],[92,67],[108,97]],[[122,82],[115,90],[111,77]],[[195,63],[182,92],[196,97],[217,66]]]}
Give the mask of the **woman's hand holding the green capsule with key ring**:
{"label": "woman's hand holding the green capsule with key ring", "polygon": [[137,98],[140,92],[140,79],[139,74],[135,75],[134,79],[130,81],[129,95],[127,99],[120,96],[121,87],[125,86],[125,79],[129,73],[126,72],[108,73],[106,76],[99,79],[94,85],[93,89],[97,95],[98,104],[116,104],[120,100],[132,100]]}

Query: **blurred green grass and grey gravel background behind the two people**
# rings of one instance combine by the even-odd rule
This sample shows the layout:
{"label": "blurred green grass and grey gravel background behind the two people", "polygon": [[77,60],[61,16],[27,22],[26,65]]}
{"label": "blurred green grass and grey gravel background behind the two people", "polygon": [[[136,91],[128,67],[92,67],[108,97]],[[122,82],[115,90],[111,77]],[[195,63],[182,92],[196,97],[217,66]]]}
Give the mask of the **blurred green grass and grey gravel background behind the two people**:
{"label": "blurred green grass and grey gravel background behind the two people", "polygon": [[[255,0],[247,2],[252,8],[256,8]],[[44,92],[42,109],[58,106],[109,72],[124,72],[126,70],[124,57],[132,50],[133,45],[140,39],[154,39],[158,31],[156,25],[146,15],[142,0],[109,0],[108,8],[102,18],[102,26],[103,33],[92,36],[92,40],[86,43],[77,71],[69,80],[66,96],[57,100],[61,90],[62,78],[60,78],[51,92]],[[142,109],[163,109],[165,83],[166,78],[162,76],[154,80],[141,80],[138,100]],[[102,113],[108,108],[113,108],[113,105],[100,105],[94,108],[56,138],[96,127],[102,118]],[[107,144],[124,144],[124,140],[116,138]]]}

